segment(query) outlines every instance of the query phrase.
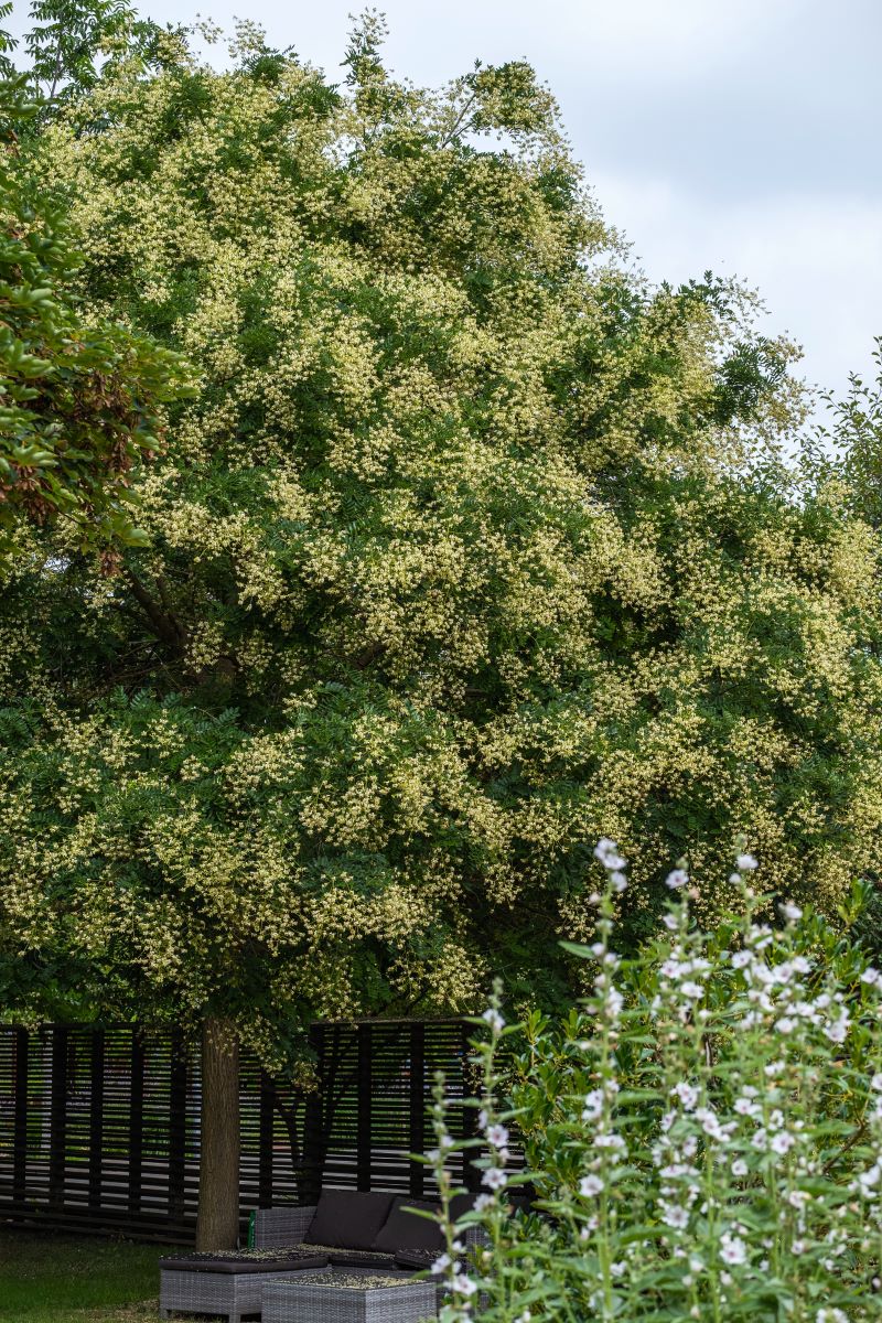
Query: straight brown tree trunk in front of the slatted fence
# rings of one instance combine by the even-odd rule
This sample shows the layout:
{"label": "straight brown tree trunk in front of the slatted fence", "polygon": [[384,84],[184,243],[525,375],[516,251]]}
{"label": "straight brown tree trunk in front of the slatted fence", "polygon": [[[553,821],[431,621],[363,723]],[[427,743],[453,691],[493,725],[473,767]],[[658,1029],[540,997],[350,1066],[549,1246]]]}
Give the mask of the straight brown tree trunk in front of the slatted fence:
{"label": "straight brown tree trunk in front of the slatted fence", "polygon": [[197,1250],[235,1249],[239,1237],[239,1044],[230,1020],[202,1025],[202,1125]]}

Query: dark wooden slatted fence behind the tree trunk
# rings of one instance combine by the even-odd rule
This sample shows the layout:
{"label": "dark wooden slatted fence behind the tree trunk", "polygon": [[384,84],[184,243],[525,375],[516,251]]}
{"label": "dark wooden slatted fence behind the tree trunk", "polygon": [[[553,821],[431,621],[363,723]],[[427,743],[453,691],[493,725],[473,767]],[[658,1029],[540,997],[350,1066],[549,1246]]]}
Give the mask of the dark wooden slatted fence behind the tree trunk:
{"label": "dark wooden slatted fence behind the tree trunk", "polygon": [[[323,1185],[432,1192],[431,1089],[465,1085],[467,1029],[431,1020],[317,1024],[319,1090],[242,1058],[242,1217]],[[132,1025],[0,1025],[0,1220],[193,1238],[200,1070],[180,1033]],[[471,1111],[454,1107],[463,1132]],[[464,1172],[473,1184],[473,1170]]]}

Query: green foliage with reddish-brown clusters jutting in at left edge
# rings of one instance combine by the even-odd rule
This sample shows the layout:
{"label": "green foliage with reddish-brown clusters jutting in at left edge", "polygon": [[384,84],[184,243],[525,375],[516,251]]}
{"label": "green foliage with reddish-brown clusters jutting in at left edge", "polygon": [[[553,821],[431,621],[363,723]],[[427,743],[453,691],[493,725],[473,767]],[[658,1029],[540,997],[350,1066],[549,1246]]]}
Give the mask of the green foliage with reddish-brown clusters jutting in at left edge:
{"label": "green foliage with reddish-brown clusters jutting in at left edge", "polygon": [[16,130],[38,111],[24,75],[0,85],[0,566],[22,523],[65,515],[75,545],[134,545],[132,466],[161,447],[179,357],[107,319],[83,316],[79,259],[58,210],[22,171]]}

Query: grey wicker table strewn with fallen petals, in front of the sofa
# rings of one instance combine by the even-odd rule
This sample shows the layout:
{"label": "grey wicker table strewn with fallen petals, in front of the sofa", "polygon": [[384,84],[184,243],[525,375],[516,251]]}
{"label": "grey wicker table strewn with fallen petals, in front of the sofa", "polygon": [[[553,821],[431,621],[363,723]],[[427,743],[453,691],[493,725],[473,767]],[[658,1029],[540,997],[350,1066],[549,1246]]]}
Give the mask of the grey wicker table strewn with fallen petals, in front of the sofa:
{"label": "grey wicker table strewn with fallen petals, in front of the sofa", "polygon": [[303,1273],[263,1286],[263,1323],[419,1323],[438,1318],[432,1282],[386,1274]]}

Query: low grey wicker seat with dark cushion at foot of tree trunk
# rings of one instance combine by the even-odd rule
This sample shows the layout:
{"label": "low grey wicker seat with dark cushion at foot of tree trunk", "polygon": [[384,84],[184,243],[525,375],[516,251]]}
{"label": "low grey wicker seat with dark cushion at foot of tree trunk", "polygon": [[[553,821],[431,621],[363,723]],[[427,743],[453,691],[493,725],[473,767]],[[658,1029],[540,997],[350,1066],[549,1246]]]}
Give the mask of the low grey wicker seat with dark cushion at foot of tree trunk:
{"label": "low grey wicker seat with dark cushion at foot of tree trunk", "polygon": [[210,1254],[160,1259],[159,1312],[225,1314],[241,1323],[245,1314],[259,1314],[263,1287],[279,1275],[324,1267],[325,1254],[305,1250],[278,1256]]}

